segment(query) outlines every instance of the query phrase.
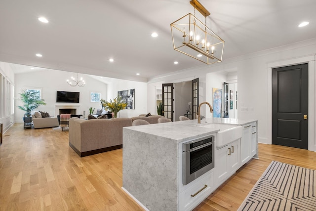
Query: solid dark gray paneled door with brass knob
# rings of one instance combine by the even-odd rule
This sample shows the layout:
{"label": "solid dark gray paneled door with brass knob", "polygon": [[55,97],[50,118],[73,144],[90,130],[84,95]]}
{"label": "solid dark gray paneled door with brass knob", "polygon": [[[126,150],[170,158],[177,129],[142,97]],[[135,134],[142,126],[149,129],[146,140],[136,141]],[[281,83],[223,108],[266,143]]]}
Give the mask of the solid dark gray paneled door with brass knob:
{"label": "solid dark gray paneled door with brass knob", "polygon": [[308,64],[272,70],[272,143],[308,149]]}

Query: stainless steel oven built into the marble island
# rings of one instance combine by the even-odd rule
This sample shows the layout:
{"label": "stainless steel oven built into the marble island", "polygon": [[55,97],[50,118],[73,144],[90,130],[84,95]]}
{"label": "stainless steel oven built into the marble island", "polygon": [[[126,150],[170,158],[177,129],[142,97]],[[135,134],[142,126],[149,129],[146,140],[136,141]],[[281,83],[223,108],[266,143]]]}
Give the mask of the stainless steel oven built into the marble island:
{"label": "stainless steel oven built into the marble island", "polygon": [[214,168],[214,135],[183,143],[183,184]]}

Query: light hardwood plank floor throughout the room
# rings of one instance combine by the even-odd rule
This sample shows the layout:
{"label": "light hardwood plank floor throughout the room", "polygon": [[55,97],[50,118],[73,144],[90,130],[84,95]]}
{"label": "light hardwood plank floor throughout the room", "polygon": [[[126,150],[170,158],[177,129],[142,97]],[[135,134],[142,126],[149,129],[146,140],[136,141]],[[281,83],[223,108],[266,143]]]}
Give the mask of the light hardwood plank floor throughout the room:
{"label": "light hardwood plank floor throughout the room", "polygon": [[[316,153],[259,144],[252,159],[194,211],[236,211],[272,160],[316,169]],[[142,211],[122,186],[122,149],[80,158],[68,130],[15,124],[0,147],[0,211]]]}

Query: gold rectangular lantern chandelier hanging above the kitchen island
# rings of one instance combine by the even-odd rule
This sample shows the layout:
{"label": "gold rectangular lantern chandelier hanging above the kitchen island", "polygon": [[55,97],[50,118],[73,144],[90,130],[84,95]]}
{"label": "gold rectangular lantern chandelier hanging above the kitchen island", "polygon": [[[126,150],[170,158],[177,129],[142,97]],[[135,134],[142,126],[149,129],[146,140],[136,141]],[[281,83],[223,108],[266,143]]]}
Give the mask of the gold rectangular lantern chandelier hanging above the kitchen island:
{"label": "gold rectangular lantern chandelier hanging above the kitchen island", "polygon": [[[173,48],[205,64],[221,62],[224,41],[206,26],[209,11],[197,0],[191,0],[194,15],[189,13],[171,23]],[[195,16],[196,9],[205,17],[205,24]]]}

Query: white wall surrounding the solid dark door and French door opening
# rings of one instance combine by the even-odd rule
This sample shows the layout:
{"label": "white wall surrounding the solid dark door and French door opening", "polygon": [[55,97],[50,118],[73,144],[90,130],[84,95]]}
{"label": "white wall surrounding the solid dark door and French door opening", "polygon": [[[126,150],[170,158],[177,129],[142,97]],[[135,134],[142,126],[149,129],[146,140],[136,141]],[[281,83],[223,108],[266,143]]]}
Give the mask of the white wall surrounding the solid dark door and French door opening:
{"label": "white wall surrounding the solid dark door and French door opening", "polygon": [[[201,65],[199,68],[184,70],[179,73],[172,73],[172,75],[163,75],[150,80],[148,84],[148,96],[153,95],[150,93],[151,84],[157,83],[158,81],[165,81],[167,83],[174,83],[181,81],[184,78],[199,78],[205,79],[205,75],[208,73],[218,71],[237,71],[238,79],[238,103],[237,112],[239,119],[255,119],[258,120],[258,137],[261,143],[271,143],[271,74],[269,73],[268,66],[270,64],[280,64],[282,61],[289,61],[284,65],[297,64],[297,61],[302,61],[299,58],[315,56],[316,54],[316,39],[293,43],[286,46],[281,46],[265,51],[260,51],[248,55],[235,57],[232,59],[225,59],[225,49],[223,62],[212,64],[212,65]],[[189,59],[189,58],[188,58]],[[315,117],[315,94],[316,94],[316,74],[315,72],[315,59],[310,61],[309,72],[309,150],[316,149],[315,140],[315,128],[316,117]],[[183,80],[185,81],[185,80]],[[210,94],[208,93],[210,87],[206,82],[207,88],[203,90],[203,87],[199,89],[200,99],[203,101],[203,94],[206,95],[206,101],[211,102]],[[203,84],[202,84],[203,85]],[[201,83],[200,83],[201,86]],[[204,86],[206,87],[206,86]],[[204,93],[203,93],[204,91]],[[207,91],[207,92],[206,92]],[[201,99],[202,98],[202,99]],[[205,96],[204,96],[205,99]],[[148,107],[153,105],[149,102]],[[246,108],[241,111],[241,108]],[[208,114],[206,116],[209,116]]]}

